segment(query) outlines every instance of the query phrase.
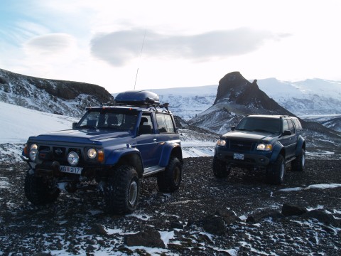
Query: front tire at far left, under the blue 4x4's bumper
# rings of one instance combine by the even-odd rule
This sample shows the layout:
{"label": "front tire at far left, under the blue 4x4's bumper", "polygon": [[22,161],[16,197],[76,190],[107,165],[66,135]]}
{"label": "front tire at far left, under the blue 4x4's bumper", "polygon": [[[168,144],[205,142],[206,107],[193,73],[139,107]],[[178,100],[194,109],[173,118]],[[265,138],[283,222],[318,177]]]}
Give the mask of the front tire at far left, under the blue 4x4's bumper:
{"label": "front tire at far left, under the blue 4x4's bumper", "polygon": [[53,203],[60,194],[58,187],[52,186],[39,176],[30,174],[30,171],[26,172],[24,191],[28,201],[37,206]]}

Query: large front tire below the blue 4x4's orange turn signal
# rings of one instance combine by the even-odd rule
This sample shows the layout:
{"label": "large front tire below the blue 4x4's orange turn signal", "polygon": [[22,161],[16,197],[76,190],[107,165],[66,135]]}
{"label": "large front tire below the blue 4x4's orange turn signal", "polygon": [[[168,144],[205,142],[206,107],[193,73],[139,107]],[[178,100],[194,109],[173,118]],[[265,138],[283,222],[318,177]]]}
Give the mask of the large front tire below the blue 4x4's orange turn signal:
{"label": "large front tire below the blue 4x4's orange turn signal", "polygon": [[104,188],[107,213],[126,214],[136,210],[139,203],[139,175],[132,166],[118,166]]}

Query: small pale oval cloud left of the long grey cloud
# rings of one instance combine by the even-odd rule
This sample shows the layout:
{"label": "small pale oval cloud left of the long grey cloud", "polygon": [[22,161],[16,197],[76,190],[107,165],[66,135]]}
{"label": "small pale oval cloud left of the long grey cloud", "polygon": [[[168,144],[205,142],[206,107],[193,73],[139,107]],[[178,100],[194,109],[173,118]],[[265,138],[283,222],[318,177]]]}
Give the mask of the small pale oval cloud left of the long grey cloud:
{"label": "small pale oval cloud left of the long grey cloud", "polygon": [[33,55],[58,55],[75,47],[75,38],[65,33],[50,33],[31,38],[24,46]]}

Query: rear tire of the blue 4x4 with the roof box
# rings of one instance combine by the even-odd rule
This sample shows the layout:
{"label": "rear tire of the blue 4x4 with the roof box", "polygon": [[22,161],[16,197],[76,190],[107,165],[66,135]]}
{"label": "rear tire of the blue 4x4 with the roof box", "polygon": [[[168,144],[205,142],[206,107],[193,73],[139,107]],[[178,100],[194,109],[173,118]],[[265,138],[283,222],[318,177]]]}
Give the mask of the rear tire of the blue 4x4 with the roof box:
{"label": "rear tire of the blue 4x4 with the roof box", "polygon": [[183,166],[176,157],[172,157],[165,171],[158,173],[158,190],[161,192],[173,192],[179,189],[183,175]]}

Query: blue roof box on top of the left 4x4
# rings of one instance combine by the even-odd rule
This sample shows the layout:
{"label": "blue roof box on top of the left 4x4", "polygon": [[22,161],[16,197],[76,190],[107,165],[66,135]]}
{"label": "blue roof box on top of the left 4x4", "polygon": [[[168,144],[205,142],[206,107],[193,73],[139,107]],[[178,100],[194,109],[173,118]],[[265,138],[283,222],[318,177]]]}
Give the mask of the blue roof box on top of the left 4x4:
{"label": "blue roof box on top of the left 4x4", "polygon": [[158,95],[145,90],[120,92],[115,101],[125,105],[160,105]]}

